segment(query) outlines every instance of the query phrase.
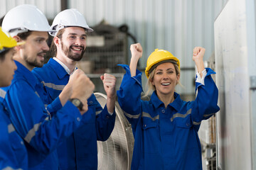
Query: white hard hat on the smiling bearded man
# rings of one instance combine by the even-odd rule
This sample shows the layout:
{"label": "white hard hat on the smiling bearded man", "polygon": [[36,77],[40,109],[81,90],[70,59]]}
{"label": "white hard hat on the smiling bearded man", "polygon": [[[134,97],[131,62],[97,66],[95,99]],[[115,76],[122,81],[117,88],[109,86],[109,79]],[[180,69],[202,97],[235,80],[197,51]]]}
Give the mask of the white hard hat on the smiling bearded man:
{"label": "white hard hat on the smiling bearded man", "polygon": [[50,35],[55,36],[57,35],[58,31],[66,28],[66,27],[82,27],[85,28],[88,32],[92,32],[92,28],[90,28],[86,21],[85,17],[82,16],[82,13],[80,13],[75,8],[65,9],[64,11],[61,11],[58,13],[57,16],[55,16],[53,20],[52,26],[50,26],[51,29],[56,30],[55,32],[49,32]]}

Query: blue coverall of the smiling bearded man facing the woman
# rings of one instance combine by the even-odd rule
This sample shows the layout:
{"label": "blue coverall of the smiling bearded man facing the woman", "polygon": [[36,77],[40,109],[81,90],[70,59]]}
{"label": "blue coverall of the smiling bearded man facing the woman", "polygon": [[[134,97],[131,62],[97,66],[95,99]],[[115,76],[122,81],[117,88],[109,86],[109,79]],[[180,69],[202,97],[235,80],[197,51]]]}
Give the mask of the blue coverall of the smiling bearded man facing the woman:
{"label": "blue coverall of the smiling bearded man facing the woman", "polygon": [[[46,104],[59,96],[70,78],[52,58],[43,67],[33,69],[33,74],[44,84],[48,95]],[[115,113],[110,115],[107,106],[102,110],[94,94],[87,103],[89,110],[82,115],[82,125],[58,147],[60,169],[97,169],[97,140],[107,140],[114,128]]]}

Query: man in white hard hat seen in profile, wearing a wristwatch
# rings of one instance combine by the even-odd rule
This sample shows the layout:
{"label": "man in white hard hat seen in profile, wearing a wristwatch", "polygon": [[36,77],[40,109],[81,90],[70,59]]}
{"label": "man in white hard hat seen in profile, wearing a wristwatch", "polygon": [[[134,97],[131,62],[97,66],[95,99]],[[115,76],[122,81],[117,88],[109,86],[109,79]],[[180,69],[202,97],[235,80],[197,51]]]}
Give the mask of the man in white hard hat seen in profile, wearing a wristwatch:
{"label": "man in white hard hat seen in profile, wearing a wristwatch", "polygon": [[[44,55],[49,50],[46,40],[50,26],[46,16],[36,6],[16,6],[6,13],[2,28],[17,42],[26,42],[15,47],[17,70],[11,86],[3,89],[6,93],[3,103],[18,135],[25,141],[28,169],[57,170],[56,148],[79,128],[94,85],[77,70],[59,98],[46,108],[45,98],[40,97],[45,93],[43,86],[31,72],[34,67],[43,66]],[[53,111],[56,113],[51,114]]]}

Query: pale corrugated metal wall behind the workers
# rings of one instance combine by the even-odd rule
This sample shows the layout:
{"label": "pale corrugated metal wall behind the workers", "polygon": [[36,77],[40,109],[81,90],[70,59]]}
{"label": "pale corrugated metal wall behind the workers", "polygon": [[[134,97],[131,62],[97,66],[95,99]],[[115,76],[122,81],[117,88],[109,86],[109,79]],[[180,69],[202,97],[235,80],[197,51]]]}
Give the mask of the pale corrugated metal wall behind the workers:
{"label": "pale corrugated metal wall behind the workers", "polygon": [[[0,15],[19,4],[34,4],[49,19],[60,11],[60,0],[0,0]],[[181,60],[182,94],[193,94],[193,47],[206,48],[206,60],[214,51],[213,22],[228,0],[70,0],[68,8],[78,8],[89,26],[103,19],[113,26],[127,24],[144,48],[140,61],[146,67],[146,59],[155,48],[169,50]],[[128,45],[132,43],[129,39]],[[129,47],[128,47],[129,48]],[[143,79],[144,86],[146,79]]]}

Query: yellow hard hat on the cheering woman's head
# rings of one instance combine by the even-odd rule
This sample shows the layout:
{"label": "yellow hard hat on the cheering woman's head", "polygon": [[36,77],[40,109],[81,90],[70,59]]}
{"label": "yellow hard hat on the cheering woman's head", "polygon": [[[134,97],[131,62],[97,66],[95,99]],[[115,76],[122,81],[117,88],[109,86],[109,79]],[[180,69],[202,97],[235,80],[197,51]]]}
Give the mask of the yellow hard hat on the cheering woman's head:
{"label": "yellow hard hat on the cheering woman's head", "polygon": [[[180,62],[177,57],[174,57],[174,55],[171,54],[171,52],[166,51],[166,50],[159,50],[156,49],[154,52],[149,55],[148,60],[146,61],[146,69],[145,69],[145,74],[146,77],[149,78],[149,71],[151,71],[151,68],[159,63],[159,62],[164,62],[165,60],[174,60],[178,64],[178,69],[180,68]],[[154,68],[154,67],[153,67]]]}

